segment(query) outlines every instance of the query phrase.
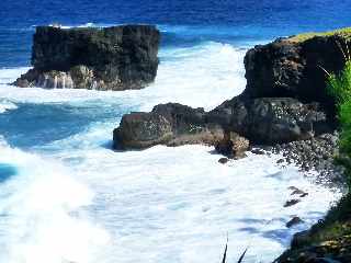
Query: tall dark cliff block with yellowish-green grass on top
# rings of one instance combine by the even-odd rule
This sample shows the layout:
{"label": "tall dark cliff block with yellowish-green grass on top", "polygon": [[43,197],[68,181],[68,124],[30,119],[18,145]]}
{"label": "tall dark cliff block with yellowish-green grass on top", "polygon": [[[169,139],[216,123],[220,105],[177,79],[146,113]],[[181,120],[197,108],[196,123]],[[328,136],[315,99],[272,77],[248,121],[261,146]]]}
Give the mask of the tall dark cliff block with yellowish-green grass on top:
{"label": "tall dark cliff block with yellowish-green grass on top", "polygon": [[246,93],[251,98],[295,98],[320,102],[332,110],[333,100],[326,89],[326,71],[344,66],[348,39],[340,34],[280,38],[258,45],[245,57]]}

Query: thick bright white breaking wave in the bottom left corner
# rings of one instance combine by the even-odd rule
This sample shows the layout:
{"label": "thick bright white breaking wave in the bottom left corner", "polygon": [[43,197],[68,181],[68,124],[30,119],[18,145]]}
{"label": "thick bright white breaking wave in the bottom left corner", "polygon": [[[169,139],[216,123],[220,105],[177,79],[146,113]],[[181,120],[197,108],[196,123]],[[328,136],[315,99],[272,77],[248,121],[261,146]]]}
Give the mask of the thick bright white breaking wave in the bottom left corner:
{"label": "thick bright white breaking wave in the bottom left corner", "polygon": [[109,235],[84,216],[93,193],[58,162],[4,142],[0,151],[19,170],[0,185],[0,262],[97,262]]}

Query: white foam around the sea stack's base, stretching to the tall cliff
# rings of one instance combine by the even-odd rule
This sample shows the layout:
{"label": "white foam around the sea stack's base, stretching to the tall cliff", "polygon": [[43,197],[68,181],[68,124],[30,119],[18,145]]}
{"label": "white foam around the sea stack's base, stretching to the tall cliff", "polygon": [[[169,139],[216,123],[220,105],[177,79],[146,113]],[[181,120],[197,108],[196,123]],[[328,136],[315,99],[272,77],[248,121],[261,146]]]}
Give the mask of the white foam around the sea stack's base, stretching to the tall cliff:
{"label": "white foam around the sea stack's base, stretching to the tall cliff", "polygon": [[0,98],[35,103],[103,99],[126,105],[141,103],[143,111],[149,111],[157,103],[179,102],[208,110],[244,90],[244,54],[245,50],[219,43],[162,52],[161,59],[165,60],[159,66],[155,83],[143,90],[124,92],[14,88],[4,83],[14,81],[27,68],[2,69]]}

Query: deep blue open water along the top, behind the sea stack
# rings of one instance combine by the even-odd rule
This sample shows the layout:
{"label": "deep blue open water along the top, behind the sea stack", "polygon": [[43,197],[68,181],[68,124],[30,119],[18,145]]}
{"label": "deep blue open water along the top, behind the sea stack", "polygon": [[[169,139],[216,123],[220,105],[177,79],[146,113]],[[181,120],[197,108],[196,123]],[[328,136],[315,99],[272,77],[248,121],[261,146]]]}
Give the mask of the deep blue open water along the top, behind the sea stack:
{"label": "deep blue open water along the top, behind the sea stack", "polygon": [[29,65],[35,25],[151,23],[167,28],[163,44],[267,39],[348,26],[350,0],[12,1],[0,3],[0,67]]}

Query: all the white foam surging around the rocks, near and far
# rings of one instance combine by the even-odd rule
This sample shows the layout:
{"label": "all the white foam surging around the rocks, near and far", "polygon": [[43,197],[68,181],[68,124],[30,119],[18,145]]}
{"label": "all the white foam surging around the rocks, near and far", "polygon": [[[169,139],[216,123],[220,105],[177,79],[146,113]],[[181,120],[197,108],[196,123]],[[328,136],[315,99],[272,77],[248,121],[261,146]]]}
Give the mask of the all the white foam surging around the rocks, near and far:
{"label": "all the white foam surging around the rocks, near and far", "polygon": [[[162,50],[156,82],[124,92],[20,89],[4,83],[26,69],[3,69],[0,98],[70,105],[99,99],[97,111],[116,102],[149,111],[169,101],[210,110],[242,91],[244,53],[218,43]],[[249,153],[223,165],[204,146],[114,152],[105,146],[115,124],[99,121],[35,153],[0,140],[0,163],[19,169],[0,184],[0,262],[219,262],[226,233],[228,262],[249,244],[246,262],[270,262],[340,196],[294,167],[279,168],[278,156]],[[283,208],[292,185],[309,195]],[[294,215],[305,224],[285,228]]]}

